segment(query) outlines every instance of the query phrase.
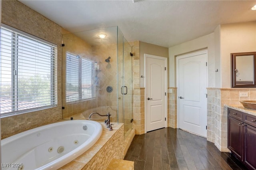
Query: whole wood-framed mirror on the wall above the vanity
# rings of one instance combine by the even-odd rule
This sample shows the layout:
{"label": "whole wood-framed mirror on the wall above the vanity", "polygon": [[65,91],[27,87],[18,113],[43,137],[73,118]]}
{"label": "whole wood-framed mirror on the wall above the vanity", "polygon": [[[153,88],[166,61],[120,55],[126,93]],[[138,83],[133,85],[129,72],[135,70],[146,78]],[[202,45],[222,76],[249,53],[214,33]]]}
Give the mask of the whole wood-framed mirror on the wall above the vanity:
{"label": "whole wood-framed mirror on the wall above the vanity", "polygon": [[231,53],[231,87],[256,87],[256,52]]}

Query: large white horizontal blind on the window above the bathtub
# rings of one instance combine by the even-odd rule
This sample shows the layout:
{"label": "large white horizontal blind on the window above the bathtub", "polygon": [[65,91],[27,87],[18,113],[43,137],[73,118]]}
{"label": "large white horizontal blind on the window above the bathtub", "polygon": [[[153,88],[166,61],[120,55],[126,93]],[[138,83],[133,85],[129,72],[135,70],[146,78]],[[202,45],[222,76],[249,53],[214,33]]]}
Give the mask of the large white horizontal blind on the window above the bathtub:
{"label": "large white horizontal blind on the window above the bathtub", "polygon": [[1,28],[0,115],[57,105],[57,47],[16,29]]}

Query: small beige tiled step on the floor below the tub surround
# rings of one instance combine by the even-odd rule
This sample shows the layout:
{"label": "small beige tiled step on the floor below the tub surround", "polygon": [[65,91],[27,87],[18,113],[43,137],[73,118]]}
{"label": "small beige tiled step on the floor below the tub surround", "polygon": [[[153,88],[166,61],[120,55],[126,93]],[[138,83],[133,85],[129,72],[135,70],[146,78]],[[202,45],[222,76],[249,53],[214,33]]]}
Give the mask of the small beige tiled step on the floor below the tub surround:
{"label": "small beige tiled step on the floor below the tub surround", "polygon": [[112,159],[106,170],[134,170],[134,162],[130,160]]}

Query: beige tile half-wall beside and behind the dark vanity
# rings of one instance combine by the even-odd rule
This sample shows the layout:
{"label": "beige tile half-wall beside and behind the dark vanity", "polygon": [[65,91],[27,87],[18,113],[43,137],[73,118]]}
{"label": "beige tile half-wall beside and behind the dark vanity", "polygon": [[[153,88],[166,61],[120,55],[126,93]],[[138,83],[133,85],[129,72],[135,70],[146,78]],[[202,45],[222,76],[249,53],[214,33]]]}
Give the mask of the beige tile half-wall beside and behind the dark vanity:
{"label": "beige tile half-wall beside and behind the dark vanity", "polygon": [[[227,110],[224,105],[242,106],[239,101],[255,100],[256,89],[237,88],[219,89],[208,88],[207,101],[207,140],[214,142],[222,152],[227,148]],[[248,92],[248,97],[240,97],[240,92]]]}

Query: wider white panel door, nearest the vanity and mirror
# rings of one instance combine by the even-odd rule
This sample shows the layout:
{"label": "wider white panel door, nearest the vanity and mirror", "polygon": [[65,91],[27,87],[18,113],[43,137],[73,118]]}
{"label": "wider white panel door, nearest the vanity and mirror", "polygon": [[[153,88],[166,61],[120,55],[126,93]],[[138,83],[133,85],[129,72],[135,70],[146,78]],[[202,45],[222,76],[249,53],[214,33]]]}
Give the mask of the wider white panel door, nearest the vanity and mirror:
{"label": "wider white panel door, nearest the vanity and mirror", "polygon": [[179,128],[206,137],[207,51],[177,57]]}

